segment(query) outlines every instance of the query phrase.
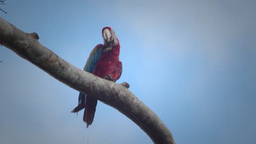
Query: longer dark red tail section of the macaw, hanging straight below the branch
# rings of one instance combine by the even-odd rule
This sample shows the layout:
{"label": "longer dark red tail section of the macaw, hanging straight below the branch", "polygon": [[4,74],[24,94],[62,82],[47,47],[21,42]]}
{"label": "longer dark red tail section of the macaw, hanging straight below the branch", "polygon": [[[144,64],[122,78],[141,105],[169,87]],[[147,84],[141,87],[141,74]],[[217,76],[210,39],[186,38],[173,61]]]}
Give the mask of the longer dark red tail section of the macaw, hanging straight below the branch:
{"label": "longer dark red tail section of the macaw, hanging straight below the branch", "polygon": [[92,97],[86,97],[86,104],[84,110],[84,122],[86,123],[86,128],[88,128],[89,125],[92,124],[92,121],[94,121],[96,106],[97,99]]}

